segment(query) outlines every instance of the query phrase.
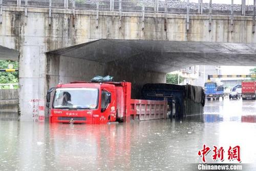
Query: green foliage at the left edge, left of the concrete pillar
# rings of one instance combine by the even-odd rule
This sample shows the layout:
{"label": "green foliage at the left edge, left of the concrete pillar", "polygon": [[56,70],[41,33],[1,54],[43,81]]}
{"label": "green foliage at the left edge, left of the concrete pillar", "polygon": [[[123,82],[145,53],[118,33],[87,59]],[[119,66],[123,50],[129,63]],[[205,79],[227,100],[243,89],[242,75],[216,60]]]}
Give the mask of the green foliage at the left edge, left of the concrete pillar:
{"label": "green foliage at the left edge, left of the concrete pillar", "polygon": [[[12,64],[14,69],[18,68],[17,61],[0,60],[0,69],[7,69],[9,64]],[[18,83],[18,72],[0,72],[0,83]]]}

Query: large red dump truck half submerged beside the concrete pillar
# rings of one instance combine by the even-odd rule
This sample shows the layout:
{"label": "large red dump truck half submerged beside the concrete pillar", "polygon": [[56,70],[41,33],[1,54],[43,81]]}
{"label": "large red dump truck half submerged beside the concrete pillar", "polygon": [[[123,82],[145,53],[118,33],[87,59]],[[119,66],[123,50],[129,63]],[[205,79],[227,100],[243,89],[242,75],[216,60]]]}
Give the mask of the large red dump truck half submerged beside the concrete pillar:
{"label": "large red dump truck half submerged beside the concrete pillar", "polygon": [[131,99],[130,82],[59,84],[48,90],[46,106],[50,123],[106,124],[167,117],[167,101]]}

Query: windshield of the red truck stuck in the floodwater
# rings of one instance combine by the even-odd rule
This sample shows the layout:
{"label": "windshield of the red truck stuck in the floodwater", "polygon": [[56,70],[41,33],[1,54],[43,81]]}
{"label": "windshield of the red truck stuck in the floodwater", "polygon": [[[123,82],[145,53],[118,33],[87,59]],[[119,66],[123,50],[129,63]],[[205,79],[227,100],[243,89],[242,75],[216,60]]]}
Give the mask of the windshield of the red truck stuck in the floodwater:
{"label": "windshield of the red truck stuck in the floodwater", "polygon": [[53,108],[96,109],[97,106],[97,88],[57,88],[53,100]]}

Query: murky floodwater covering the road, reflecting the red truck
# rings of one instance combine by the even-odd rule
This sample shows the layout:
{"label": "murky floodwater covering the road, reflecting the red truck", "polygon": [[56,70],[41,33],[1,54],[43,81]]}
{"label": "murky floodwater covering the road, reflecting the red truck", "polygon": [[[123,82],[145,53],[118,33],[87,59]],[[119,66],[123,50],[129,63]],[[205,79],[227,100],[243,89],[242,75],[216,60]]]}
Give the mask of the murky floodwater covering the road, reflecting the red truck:
{"label": "murky floodwater covering the road, reflecting the red truck", "polygon": [[[0,121],[0,170],[191,170],[203,144],[240,145],[256,170],[256,102],[206,102],[205,114],[116,125]],[[212,153],[206,156],[208,163]],[[236,160],[233,163],[238,163]]]}

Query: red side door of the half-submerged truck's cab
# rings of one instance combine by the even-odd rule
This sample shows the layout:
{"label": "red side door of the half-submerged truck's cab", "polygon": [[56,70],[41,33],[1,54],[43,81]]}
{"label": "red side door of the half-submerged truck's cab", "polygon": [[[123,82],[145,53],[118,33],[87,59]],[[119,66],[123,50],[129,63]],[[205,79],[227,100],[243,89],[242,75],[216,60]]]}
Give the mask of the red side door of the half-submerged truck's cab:
{"label": "red side door of the half-submerged truck's cab", "polygon": [[107,123],[108,121],[111,120],[111,107],[113,106],[111,103],[113,102],[112,100],[112,92],[102,89],[101,90],[101,103],[100,103],[100,123]]}

